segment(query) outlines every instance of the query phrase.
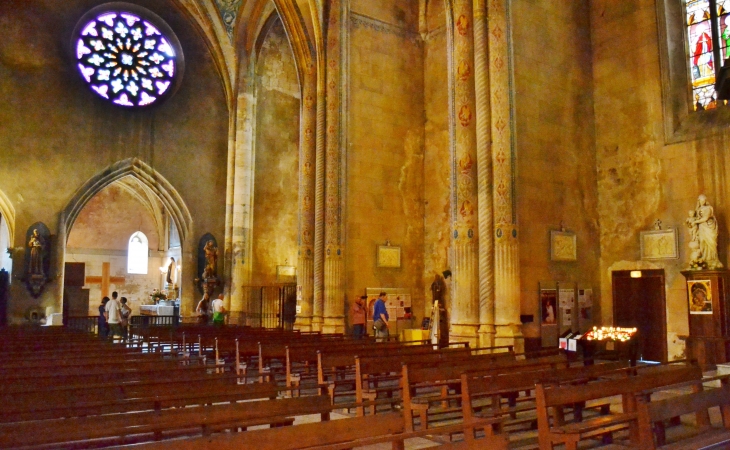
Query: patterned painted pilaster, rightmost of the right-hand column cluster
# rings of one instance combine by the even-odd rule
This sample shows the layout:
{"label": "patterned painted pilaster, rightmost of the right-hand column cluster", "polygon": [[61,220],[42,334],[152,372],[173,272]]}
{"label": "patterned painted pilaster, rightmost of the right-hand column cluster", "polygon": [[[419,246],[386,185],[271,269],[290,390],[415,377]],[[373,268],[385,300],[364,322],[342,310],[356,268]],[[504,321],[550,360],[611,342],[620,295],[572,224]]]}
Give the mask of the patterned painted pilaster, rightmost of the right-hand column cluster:
{"label": "patterned painted pilaster, rightmost of the right-hand column cluster", "polygon": [[495,345],[524,348],[520,323],[520,267],[515,210],[509,0],[489,3],[489,76],[495,237]]}

